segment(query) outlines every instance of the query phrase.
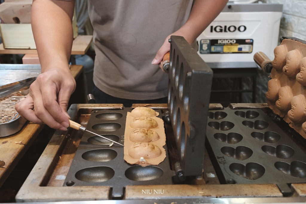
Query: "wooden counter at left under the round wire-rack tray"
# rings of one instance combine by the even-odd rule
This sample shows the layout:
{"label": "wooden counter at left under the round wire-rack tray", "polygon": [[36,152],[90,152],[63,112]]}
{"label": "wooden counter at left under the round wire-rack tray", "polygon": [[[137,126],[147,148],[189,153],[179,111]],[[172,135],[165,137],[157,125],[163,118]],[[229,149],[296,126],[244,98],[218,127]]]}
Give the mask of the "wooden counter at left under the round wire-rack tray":
{"label": "wooden counter at left under the round wire-rack tray", "polygon": [[[77,83],[77,87],[74,93],[77,94],[79,98],[81,98],[79,100],[84,101],[84,89],[82,90],[82,87],[84,87],[83,66],[72,65],[70,71]],[[84,97],[80,97],[81,95],[84,95]],[[0,160],[5,162],[5,166],[0,167],[0,187],[9,176],[10,172],[12,172],[18,161],[24,155],[24,153],[31,146],[39,132],[43,129],[43,126],[44,125],[33,124],[32,122],[27,121],[20,132],[8,137],[0,138]]]}

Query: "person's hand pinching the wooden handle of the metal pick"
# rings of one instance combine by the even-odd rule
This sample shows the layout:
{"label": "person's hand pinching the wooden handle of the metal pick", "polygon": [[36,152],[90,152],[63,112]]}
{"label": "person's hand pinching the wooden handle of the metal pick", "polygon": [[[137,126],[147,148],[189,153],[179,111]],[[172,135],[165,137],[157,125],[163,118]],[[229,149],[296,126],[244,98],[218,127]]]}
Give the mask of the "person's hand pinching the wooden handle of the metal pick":
{"label": "person's hand pinching the wooden handle of the metal pick", "polygon": [[[69,69],[50,69],[31,84],[27,97],[16,104],[21,117],[66,131],[69,127],[67,107],[76,82]],[[34,109],[34,110],[33,110]]]}

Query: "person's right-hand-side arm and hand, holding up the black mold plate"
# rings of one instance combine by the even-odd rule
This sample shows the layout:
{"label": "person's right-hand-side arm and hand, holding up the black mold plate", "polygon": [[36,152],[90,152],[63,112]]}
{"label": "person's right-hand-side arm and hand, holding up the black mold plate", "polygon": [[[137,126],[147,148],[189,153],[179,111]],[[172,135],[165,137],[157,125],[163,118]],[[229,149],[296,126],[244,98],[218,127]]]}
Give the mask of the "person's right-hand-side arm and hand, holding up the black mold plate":
{"label": "person's right-hand-side arm and hand, holding up the black mold plate", "polygon": [[[192,44],[205,28],[207,28],[207,26],[219,15],[227,2],[228,0],[195,0],[186,23],[171,35],[183,36],[189,44]],[[170,43],[168,39],[171,35],[166,37],[165,42],[158,50],[152,61],[153,65],[158,65],[162,61],[164,55],[169,52]]]}

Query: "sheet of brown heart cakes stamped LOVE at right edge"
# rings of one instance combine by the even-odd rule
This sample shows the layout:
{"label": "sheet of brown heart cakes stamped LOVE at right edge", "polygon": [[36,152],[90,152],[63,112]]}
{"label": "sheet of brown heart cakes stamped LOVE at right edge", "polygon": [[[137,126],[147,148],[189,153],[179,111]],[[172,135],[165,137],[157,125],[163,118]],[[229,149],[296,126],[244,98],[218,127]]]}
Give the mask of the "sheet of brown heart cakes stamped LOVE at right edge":
{"label": "sheet of brown heart cakes stamped LOVE at right edge", "polygon": [[283,39],[274,55],[266,93],[268,106],[306,138],[306,45]]}

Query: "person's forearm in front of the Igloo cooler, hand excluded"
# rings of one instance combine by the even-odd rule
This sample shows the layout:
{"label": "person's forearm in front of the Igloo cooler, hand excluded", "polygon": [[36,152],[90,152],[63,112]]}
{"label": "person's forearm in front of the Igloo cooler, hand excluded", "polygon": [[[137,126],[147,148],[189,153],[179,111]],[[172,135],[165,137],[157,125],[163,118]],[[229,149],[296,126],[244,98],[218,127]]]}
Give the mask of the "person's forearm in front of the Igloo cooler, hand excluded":
{"label": "person's forearm in front of the Igloo cooler, hand excluded", "polygon": [[186,23],[180,28],[188,33],[185,38],[192,43],[219,15],[228,0],[195,0]]}

